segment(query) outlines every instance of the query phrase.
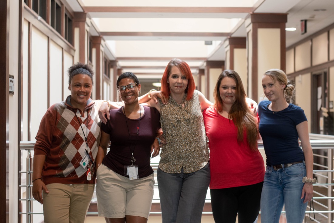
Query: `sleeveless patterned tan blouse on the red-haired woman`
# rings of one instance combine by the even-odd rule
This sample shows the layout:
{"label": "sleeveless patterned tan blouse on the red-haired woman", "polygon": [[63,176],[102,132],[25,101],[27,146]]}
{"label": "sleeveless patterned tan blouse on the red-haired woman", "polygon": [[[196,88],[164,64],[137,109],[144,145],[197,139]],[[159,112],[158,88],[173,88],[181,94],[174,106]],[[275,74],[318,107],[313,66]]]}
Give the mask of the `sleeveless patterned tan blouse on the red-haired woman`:
{"label": "sleeveless patterned tan blouse on the red-haired woman", "polygon": [[[169,96],[168,104],[160,103],[160,123],[167,144],[162,145],[159,168],[167,173],[191,173],[203,168],[209,160],[203,113],[198,92],[190,100],[184,94],[178,104]],[[184,104],[184,106],[183,106]]]}

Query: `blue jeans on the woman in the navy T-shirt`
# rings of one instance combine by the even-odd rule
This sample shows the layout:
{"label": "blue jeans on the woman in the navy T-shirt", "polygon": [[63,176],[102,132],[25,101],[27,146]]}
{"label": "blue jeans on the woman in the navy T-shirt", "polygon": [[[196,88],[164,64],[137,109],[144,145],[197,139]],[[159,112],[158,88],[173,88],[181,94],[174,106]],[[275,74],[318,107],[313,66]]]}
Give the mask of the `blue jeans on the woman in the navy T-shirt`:
{"label": "blue jeans on the woman in the navy T-shirt", "polygon": [[288,223],[302,223],[307,203],[303,204],[303,177],[306,176],[305,163],[274,170],[267,166],[261,195],[261,222],[278,223],[285,205]]}

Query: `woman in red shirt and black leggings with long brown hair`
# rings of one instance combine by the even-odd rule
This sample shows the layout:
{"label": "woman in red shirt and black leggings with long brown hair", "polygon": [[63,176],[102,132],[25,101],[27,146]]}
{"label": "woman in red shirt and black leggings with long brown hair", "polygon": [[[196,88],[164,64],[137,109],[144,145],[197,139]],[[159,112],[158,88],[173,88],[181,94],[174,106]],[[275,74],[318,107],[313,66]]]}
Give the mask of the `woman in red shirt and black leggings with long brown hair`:
{"label": "woman in red shirt and black leggings with long brown hair", "polygon": [[258,150],[258,121],[246,103],[239,75],[223,71],[215,103],[203,111],[210,148],[210,194],[215,222],[253,223],[260,210],[265,166]]}

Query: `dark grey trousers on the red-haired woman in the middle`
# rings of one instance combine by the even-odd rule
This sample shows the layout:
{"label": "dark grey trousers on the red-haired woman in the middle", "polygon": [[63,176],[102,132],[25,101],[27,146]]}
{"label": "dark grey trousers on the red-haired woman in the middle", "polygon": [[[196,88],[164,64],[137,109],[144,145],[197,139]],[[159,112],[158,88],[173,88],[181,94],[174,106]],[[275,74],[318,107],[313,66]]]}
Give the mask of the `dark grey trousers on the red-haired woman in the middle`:
{"label": "dark grey trousers on the red-haired woman in the middle", "polygon": [[163,223],[199,223],[210,183],[210,166],[192,173],[157,172]]}

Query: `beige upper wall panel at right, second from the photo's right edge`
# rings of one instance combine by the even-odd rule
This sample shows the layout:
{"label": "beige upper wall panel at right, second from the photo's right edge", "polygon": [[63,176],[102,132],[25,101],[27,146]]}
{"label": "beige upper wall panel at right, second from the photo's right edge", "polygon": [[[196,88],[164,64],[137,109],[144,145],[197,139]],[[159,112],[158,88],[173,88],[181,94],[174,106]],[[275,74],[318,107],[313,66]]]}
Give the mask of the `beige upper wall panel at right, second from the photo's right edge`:
{"label": "beige upper wall panel at right, second from the photo's right edge", "polygon": [[324,32],[312,40],[312,66],[328,61],[328,37]]}

